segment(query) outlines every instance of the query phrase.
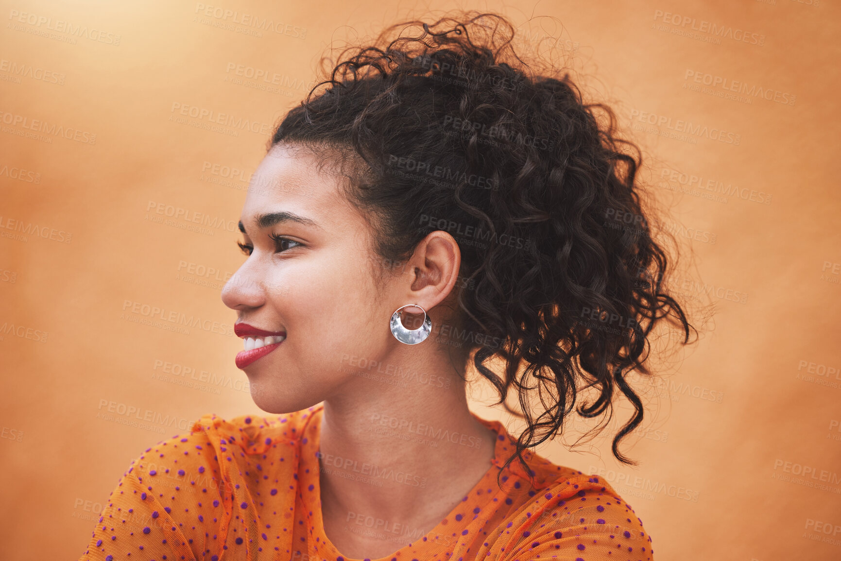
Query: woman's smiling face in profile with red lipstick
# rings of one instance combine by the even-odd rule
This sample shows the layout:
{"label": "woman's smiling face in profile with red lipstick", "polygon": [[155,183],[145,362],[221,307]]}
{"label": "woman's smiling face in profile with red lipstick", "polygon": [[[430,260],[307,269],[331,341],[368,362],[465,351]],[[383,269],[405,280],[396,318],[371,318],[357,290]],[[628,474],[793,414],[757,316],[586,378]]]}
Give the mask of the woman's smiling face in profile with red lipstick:
{"label": "woman's smiling face in profile with red lipstick", "polygon": [[410,273],[385,275],[378,290],[373,229],[341,194],[339,178],[316,172],[314,156],[272,148],[251,179],[241,230],[251,255],[225,284],[222,301],[237,310],[237,335],[246,324],[285,333],[279,344],[264,339],[271,350],[237,356],[262,410],[302,410],[343,384],[360,384],[351,365],[401,345],[389,320],[412,303]]}

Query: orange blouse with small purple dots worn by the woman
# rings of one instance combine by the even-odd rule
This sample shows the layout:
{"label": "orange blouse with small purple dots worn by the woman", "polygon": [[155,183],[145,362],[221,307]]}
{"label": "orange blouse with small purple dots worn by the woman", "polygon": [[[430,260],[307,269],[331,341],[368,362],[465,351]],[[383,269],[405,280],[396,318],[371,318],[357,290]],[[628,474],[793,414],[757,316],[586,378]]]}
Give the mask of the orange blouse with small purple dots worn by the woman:
{"label": "orange blouse with small purple dots worn by the woman", "polygon": [[[111,493],[79,560],[357,561],[342,557],[322,524],[319,475],[331,469],[320,463],[322,411],[231,421],[204,415],[190,434],[148,448]],[[526,451],[535,486],[515,459],[500,490],[496,474],[513,450],[511,437],[500,421],[475,418],[497,433],[488,472],[422,537],[370,516],[350,520],[360,532],[394,536],[399,548],[364,561],[653,560],[643,521],[599,477]],[[331,458],[340,463],[359,481],[421,484],[417,476]]]}

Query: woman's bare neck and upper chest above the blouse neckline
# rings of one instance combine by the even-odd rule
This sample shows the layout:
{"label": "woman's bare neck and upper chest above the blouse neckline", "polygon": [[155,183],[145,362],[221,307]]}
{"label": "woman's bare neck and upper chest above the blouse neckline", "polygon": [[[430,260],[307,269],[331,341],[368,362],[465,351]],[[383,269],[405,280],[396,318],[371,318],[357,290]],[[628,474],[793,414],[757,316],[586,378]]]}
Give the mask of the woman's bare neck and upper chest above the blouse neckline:
{"label": "woman's bare neck and upper chest above the blouse neckline", "polygon": [[[452,363],[435,370],[392,360],[393,368],[360,376],[324,402],[322,518],[331,542],[351,558],[382,557],[430,532],[494,458],[496,433],[468,410]],[[346,521],[358,516],[414,530],[405,543],[345,532]]]}

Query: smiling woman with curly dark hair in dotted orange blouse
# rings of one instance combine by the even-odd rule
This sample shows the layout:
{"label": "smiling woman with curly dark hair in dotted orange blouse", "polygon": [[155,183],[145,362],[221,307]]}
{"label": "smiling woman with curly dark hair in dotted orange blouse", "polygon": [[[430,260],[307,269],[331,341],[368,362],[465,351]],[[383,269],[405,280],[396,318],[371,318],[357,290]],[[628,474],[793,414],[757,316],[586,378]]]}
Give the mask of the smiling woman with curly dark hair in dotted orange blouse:
{"label": "smiling woman with curly dark hair in dotted orange blouse", "polygon": [[[633,463],[627,373],[667,312],[688,340],[639,157],[505,19],[410,24],[346,51],[251,179],[222,299],[270,415],[147,449],[82,559],[653,559],[609,484],[528,450],[592,387],[579,415],[632,403]],[[515,389],[520,437],[468,410],[468,363]]]}

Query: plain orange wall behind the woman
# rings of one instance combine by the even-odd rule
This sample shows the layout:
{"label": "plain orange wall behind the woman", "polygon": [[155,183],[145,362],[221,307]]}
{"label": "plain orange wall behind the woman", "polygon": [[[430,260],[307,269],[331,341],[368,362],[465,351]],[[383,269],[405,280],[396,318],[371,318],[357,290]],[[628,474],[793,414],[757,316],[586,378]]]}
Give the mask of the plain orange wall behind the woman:
{"label": "plain orange wall behind the woman", "polygon": [[[0,558],[77,558],[146,447],[205,413],[260,412],[220,301],[243,260],[246,179],[331,40],[426,6],[452,4],[3,2]],[[672,287],[711,310],[645,389],[644,430],[622,448],[639,467],[613,460],[608,432],[537,452],[608,479],[661,560],[841,558],[838,3],[464,6],[504,13],[526,43],[558,38],[616,108],[680,241]],[[150,325],[152,309],[209,321]],[[471,396],[516,430],[488,386]]]}

